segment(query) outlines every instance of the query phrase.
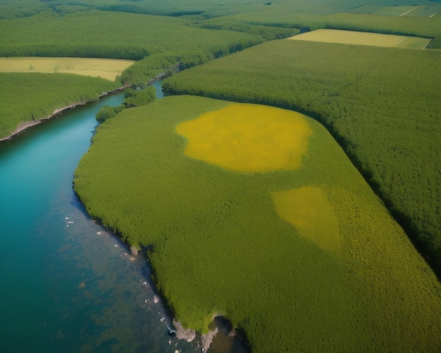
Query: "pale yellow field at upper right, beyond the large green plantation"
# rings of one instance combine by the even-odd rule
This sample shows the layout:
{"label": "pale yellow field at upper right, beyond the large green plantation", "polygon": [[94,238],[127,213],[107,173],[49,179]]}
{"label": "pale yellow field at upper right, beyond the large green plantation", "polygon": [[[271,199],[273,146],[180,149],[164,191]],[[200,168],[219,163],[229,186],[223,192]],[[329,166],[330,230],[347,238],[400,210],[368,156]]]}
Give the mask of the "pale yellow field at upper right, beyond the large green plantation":
{"label": "pale yellow field at upper right, beyond the large green plantation", "polygon": [[313,30],[288,39],[337,44],[371,45],[375,47],[399,47],[406,49],[424,49],[431,40],[421,37],[382,35],[379,33],[349,30]]}

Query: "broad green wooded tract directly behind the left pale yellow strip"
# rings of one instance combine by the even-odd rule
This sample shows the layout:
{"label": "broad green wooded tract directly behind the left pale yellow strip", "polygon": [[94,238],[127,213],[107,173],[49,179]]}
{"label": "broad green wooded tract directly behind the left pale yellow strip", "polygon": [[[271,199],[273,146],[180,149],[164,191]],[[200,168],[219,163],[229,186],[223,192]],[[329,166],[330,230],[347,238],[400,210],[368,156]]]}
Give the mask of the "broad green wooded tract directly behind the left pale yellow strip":
{"label": "broad green wooded tract directly behind the left pale yellow strip", "polygon": [[[180,18],[109,11],[40,13],[1,20],[0,56],[80,56],[139,60],[149,54],[215,53],[263,42],[244,32],[205,30]],[[130,35],[128,35],[130,34]]]}

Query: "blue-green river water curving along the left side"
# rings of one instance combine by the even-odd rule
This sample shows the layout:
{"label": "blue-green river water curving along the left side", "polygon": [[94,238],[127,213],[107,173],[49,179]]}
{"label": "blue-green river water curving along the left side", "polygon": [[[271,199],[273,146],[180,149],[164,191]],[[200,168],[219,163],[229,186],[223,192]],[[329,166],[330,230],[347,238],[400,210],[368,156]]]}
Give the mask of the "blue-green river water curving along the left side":
{"label": "blue-green river water curving along the left side", "polygon": [[147,261],[73,193],[95,114],[122,101],[106,97],[0,144],[0,352],[194,352],[169,337]]}

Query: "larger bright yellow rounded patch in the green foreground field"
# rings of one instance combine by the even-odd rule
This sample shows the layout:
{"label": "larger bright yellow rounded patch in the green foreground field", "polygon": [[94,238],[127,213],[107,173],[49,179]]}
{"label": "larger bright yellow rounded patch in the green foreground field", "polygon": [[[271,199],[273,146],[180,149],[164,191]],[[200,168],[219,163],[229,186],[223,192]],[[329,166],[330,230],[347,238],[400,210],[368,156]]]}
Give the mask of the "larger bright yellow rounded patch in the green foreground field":
{"label": "larger bright yellow rounded patch in the green foreground field", "polygon": [[187,156],[242,173],[299,168],[312,134],[302,114],[258,104],[230,104],[176,130]]}

